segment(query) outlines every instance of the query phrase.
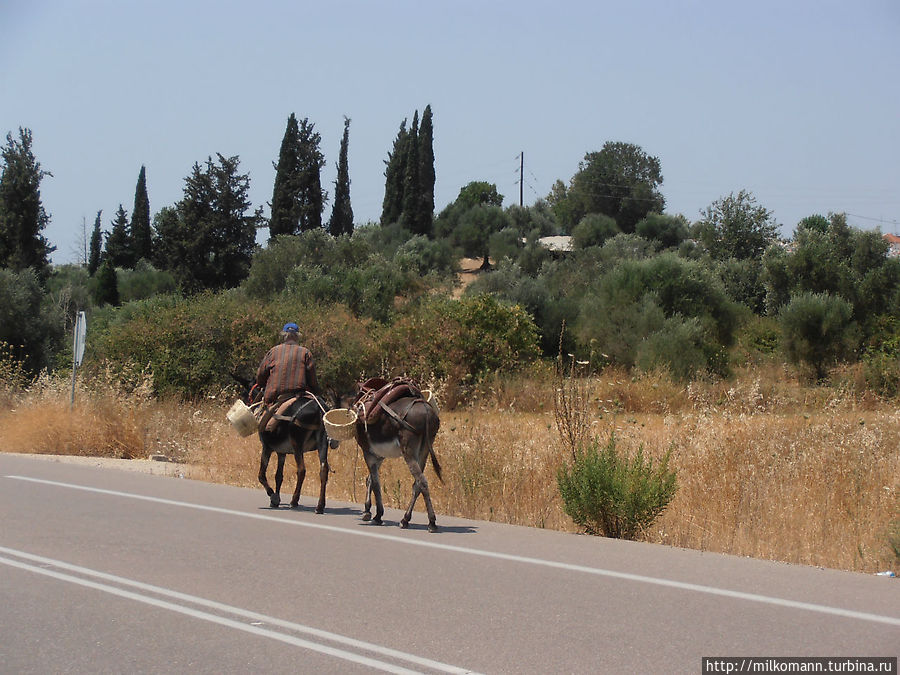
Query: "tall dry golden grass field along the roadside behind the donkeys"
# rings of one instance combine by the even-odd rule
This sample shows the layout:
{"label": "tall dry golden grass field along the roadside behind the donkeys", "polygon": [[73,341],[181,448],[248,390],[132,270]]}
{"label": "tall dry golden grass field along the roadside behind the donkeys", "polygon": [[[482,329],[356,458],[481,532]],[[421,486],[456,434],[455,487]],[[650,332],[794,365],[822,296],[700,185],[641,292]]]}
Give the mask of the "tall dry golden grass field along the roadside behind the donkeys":
{"label": "tall dry golden grass field along the roadside behind the donkeys", "polygon": [[[257,487],[259,444],[225,421],[230,396],[156,401],[140,379],[124,388],[79,383],[72,410],[64,380],[5,391],[0,449],[162,453],[189,464],[193,478]],[[887,531],[900,518],[900,410],[855,393],[852,371],[840,379],[811,388],[769,366],[689,386],[609,370],[582,385],[590,433],[615,433],[620,449],[643,446],[656,457],[672,448],[679,489],[644,539],[864,572],[896,568]],[[428,472],[439,514],[575,531],[556,489],[568,454],[554,421],[554,386],[547,372],[498,377],[468,408],[442,412],[435,449],[446,482]],[[355,444],[332,451],[331,464],[329,498],[360,502],[365,466]],[[308,471],[306,503],[317,491],[314,458]],[[291,460],[288,474],[283,492],[293,489]],[[405,464],[385,462],[382,483],[385,504],[404,508]]]}

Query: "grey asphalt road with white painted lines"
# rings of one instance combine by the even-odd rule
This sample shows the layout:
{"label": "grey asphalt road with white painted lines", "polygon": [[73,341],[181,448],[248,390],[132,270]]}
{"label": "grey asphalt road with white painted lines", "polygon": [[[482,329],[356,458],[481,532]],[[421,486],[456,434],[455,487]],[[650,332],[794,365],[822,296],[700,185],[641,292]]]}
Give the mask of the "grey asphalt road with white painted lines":
{"label": "grey asphalt road with white painted lines", "polygon": [[0,453],[3,673],[699,673],[897,656],[900,580]]}

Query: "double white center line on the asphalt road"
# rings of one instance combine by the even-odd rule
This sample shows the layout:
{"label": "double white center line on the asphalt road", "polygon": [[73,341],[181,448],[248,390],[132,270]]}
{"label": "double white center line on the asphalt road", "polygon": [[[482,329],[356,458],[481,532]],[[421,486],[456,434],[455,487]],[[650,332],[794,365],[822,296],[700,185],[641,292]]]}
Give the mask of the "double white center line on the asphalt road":
{"label": "double white center line on the asphalt road", "polygon": [[[317,651],[322,654],[327,654],[329,656],[334,656],[339,659],[344,659],[347,661],[352,661],[354,663],[359,663],[365,666],[370,666],[372,668],[377,668],[379,670],[384,670],[389,673],[418,673],[420,671],[409,670],[407,668],[402,668],[400,666],[396,666],[391,663],[387,663],[384,661],[379,661],[377,659],[372,659],[367,656],[363,656],[361,654],[356,654],[354,652],[349,652],[344,649],[337,649],[335,647],[329,647],[328,645],[318,644],[316,642],[310,642],[309,640],[304,640],[302,638],[295,637],[293,635],[288,635],[286,633],[278,632],[275,630],[271,630],[269,628],[260,628],[263,625],[269,626],[277,626],[279,628],[283,628],[285,630],[293,631],[295,633],[305,633],[307,635],[311,635],[318,639],[329,640],[331,642],[337,642],[341,645],[352,647],[354,649],[363,650],[372,652],[375,654],[379,654],[384,657],[393,658],[399,661],[407,661],[409,663],[413,663],[418,666],[422,666],[424,668],[429,668],[433,670],[439,670],[445,673],[472,673],[471,670],[466,670],[465,668],[459,668],[457,666],[452,666],[446,663],[441,663],[440,661],[434,661],[432,659],[427,659],[421,656],[416,656],[414,654],[408,654],[406,652],[401,652],[396,649],[391,649],[389,647],[383,647],[381,645],[372,644],[370,642],[364,642],[362,640],[356,640],[354,638],[349,638],[343,635],[338,635],[337,633],[330,633],[328,631],[320,630],[318,628],[312,628],[310,626],[304,626],[302,624],[294,623],[292,621],[285,621],[283,619],[278,619],[271,616],[266,616],[265,614],[260,614],[258,612],[251,612],[246,609],[242,609],[240,607],[233,607],[231,605],[226,605],[220,602],[216,602],[214,600],[207,600],[205,598],[201,598],[195,595],[188,595],[187,593],[181,593],[178,591],[173,591],[168,588],[163,588],[160,586],[153,586],[152,584],[145,584],[140,581],[134,581],[132,579],[127,579],[125,577],[119,577],[114,574],[106,574],[105,572],[99,572],[97,570],[92,570],[87,567],[80,567],[78,565],[71,565],[69,563],[63,562],[61,560],[54,560],[53,558],[45,558],[43,556],[33,555],[31,553],[26,553],[25,551],[17,551],[15,549],[5,548],[0,546],[0,564],[8,565],[10,567],[16,567],[19,569],[23,569],[29,572],[34,572],[36,574],[42,574],[44,576],[52,577],[54,579],[58,579],[60,581],[65,581],[68,583],[78,584],[80,586],[85,586],[87,588],[91,588],[93,590],[103,591],[105,593],[110,593],[112,595],[117,595],[119,597],[127,598],[129,600],[135,600],[137,602],[142,602],[147,605],[152,605],[154,607],[159,607],[161,609],[167,609],[169,611],[178,612],[179,614],[185,614],[186,616],[190,616],[195,619],[201,619],[204,621],[209,621],[211,623],[217,623],[222,626],[226,626],[228,628],[234,628],[237,630],[245,631],[247,633],[253,633],[254,635],[260,635],[262,637],[267,637],[273,640],[279,640],[280,642],[285,642],[287,644],[293,645],[295,647],[302,647],[304,649],[310,649],[312,651]],[[13,560],[12,558],[7,558],[3,556],[13,556],[15,558],[20,558],[21,560]],[[30,561],[30,562],[22,562]],[[35,564],[32,564],[35,563]],[[81,577],[73,576],[71,574],[65,574],[63,572],[58,572],[52,569],[47,569],[45,566],[55,567],[60,570],[66,570],[68,572],[73,572],[75,574],[80,574],[82,576],[93,577],[94,579],[99,579],[108,583],[100,583],[100,581],[91,581],[90,579],[84,579]],[[119,588],[117,586],[112,586],[109,584],[118,584],[119,586],[130,586],[131,588],[137,589],[138,591],[142,591],[141,593],[129,591],[123,588]],[[176,604],[174,602],[169,602],[167,600],[161,600],[159,598],[153,597],[152,595],[146,595],[147,593],[151,593],[154,595],[160,595],[167,598],[172,598],[173,600],[177,600],[182,603],[191,603],[193,605],[198,605],[200,607],[206,607],[207,609],[215,610],[221,613],[232,614],[234,616],[239,616],[243,619],[247,619],[249,623],[244,623],[241,621],[235,621],[234,619],[229,619],[227,617],[219,616],[217,614],[210,614],[209,612],[203,612],[197,609],[193,609],[191,607],[186,607],[181,604]]]}

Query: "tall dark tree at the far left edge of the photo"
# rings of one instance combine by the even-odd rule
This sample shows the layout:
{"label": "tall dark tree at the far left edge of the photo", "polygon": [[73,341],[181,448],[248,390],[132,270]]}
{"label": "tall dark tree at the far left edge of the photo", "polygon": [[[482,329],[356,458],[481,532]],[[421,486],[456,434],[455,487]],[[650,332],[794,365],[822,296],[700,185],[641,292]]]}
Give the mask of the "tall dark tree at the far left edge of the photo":
{"label": "tall dark tree at the far left edge of the photo", "polygon": [[33,268],[43,283],[50,274],[50,246],[41,231],[50,222],[41,203],[43,171],[31,151],[29,129],[19,127],[19,140],[6,135],[0,175],[0,267]]}

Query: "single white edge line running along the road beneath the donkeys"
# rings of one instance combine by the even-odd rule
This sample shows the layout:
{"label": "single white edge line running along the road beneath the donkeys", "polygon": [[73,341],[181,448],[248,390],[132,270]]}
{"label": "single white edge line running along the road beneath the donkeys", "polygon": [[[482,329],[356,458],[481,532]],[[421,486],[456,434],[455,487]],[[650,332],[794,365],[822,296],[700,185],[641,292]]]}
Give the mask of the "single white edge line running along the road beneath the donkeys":
{"label": "single white edge line running along the road beneath the donkeys", "polygon": [[476,548],[468,548],[465,546],[453,546],[451,544],[440,544],[432,541],[423,541],[421,539],[413,539],[407,537],[398,537],[394,535],[380,534],[368,530],[348,530],[346,528],[337,527],[335,525],[323,525],[320,523],[308,523],[297,520],[285,520],[275,516],[267,516],[259,513],[246,513],[243,511],[234,511],[232,509],[223,509],[217,506],[207,506],[205,504],[191,504],[190,502],[180,502],[172,499],[163,499],[160,497],[147,497],[144,495],[132,494],[129,492],[119,492],[116,490],[104,490],[84,485],[75,485],[72,483],[60,483],[57,481],[44,480],[42,478],[30,478],[28,476],[6,476],[14,480],[24,480],[33,483],[41,483],[44,485],[54,485],[57,487],[70,488],[73,490],[84,490],[86,492],[94,492],[98,494],[112,495],[116,497],[126,497],[129,499],[137,499],[142,501],[154,502],[157,504],[166,504],[169,506],[178,506],[182,508],[197,509],[200,511],[209,511],[212,513],[221,513],[230,516],[239,516],[242,518],[255,518],[258,520],[266,520],[270,522],[281,523],[283,525],[296,525],[299,527],[308,527],[311,529],[325,530],[327,532],[335,532],[339,534],[349,534],[358,537],[372,537],[382,541],[392,541],[396,543],[406,544],[407,546],[422,546],[425,548],[433,548],[442,551],[452,551],[454,553],[463,553],[467,555],[480,556],[483,558],[493,558],[496,560],[508,560],[510,562],[518,562],[529,565],[539,565],[543,567],[551,567],[554,569],[566,570],[569,572],[581,572],[584,574],[593,574],[597,576],[611,577],[615,579],[624,579],[626,581],[634,581],[644,584],[653,584],[655,586],[664,586],[667,588],[677,588],[684,591],[692,591],[694,593],[705,593],[708,595],[717,595],[735,600],[746,600],[748,602],[759,602],[766,605],[776,607],[787,607],[790,609],[801,609],[808,612],[817,612],[819,614],[829,614],[832,616],[840,616],[846,619],[857,619],[860,621],[873,621],[883,623],[890,626],[900,626],[900,618],[893,616],[884,616],[881,614],[871,614],[869,612],[858,612],[851,609],[841,607],[829,607],[828,605],[818,605],[809,602],[799,602],[797,600],[787,600],[785,598],[776,598],[768,595],[760,595],[757,593],[744,593],[742,591],[732,591],[726,588],[717,588],[715,586],[704,586],[702,584],[691,584],[683,581],[675,581],[673,579],[664,579],[661,577],[650,577],[641,574],[630,574],[628,572],[618,572],[616,570],[607,570],[599,567],[587,567],[585,565],[573,565],[570,563],[562,563],[554,560],[544,560],[541,558],[529,558],[526,556],[513,555],[510,553],[498,553],[494,551],[483,551]]}

